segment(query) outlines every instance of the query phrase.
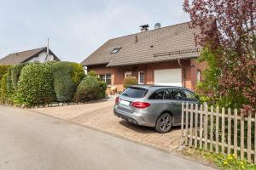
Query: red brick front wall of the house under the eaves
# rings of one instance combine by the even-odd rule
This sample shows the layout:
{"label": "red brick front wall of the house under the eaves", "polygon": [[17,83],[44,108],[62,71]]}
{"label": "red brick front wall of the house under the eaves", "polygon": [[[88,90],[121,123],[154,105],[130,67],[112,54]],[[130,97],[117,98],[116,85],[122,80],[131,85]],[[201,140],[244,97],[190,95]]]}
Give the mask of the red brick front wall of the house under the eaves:
{"label": "red brick front wall of the house under the eaves", "polygon": [[[182,81],[183,87],[195,89],[196,85],[196,71],[203,70],[207,67],[205,63],[197,64],[195,59],[183,59],[182,65]],[[195,67],[194,67],[195,65]],[[133,77],[138,77],[138,71],[144,71],[144,83],[154,84],[154,70],[158,69],[175,69],[180,68],[177,60],[168,62],[151,63],[145,65],[130,65],[119,67],[106,67],[106,65],[88,66],[88,71],[94,70],[97,74],[111,74],[112,85],[118,88],[118,91],[123,90],[123,80],[125,78],[125,71],[132,71]]]}

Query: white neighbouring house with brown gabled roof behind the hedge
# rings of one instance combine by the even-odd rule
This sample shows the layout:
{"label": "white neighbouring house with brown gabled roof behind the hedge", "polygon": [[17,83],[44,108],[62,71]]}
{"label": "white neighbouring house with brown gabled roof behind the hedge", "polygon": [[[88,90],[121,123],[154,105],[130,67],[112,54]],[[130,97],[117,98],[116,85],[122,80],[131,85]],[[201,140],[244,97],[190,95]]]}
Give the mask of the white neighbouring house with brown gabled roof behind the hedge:
{"label": "white neighbouring house with brown gabled roof behind the hedge", "polygon": [[47,47],[35,48],[31,50],[26,50],[14,54],[9,54],[3,59],[0,59],[0,65],[19,65],[20,63],[26,62],[40,62],[44,63],[46,61],[60,61],[60,59]]}

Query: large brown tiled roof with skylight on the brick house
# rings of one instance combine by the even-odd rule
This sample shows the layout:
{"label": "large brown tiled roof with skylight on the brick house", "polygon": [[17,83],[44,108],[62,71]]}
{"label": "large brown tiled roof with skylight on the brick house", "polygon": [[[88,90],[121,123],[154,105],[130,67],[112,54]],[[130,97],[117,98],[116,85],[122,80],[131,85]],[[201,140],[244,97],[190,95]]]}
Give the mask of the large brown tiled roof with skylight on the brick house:
{"label": "large brown tiled roof with skylight on the brick house", "polygon": [[[185,22],[113,38],[84,59],[82,65],[137,65],[196,58],[200,48],[195,45],[195,34],[198,33],[199,30],[189,28],[189,22]],[[121,49],[117,54],[111,54],[116,47]]]}

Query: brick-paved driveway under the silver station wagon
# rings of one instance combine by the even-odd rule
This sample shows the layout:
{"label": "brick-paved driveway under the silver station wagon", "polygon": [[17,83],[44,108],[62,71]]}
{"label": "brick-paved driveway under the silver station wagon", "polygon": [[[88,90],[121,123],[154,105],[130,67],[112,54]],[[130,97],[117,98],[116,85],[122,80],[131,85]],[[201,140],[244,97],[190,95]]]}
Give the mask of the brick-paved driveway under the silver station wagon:
{"label": "brick-paved driveway under the silver station wagon", "polygon": [[85,105],[68,105],[32,109],[50,116],[78,122],[79,124],[93,127],[108,133],[113,133],[125,139],[148,144],[160,150],[172,151],[178,147],[180,128],[174,127],[170,133],[156,133],[154,128],[139,127],[125,122],[113,115],[112,100],[102,100]]}

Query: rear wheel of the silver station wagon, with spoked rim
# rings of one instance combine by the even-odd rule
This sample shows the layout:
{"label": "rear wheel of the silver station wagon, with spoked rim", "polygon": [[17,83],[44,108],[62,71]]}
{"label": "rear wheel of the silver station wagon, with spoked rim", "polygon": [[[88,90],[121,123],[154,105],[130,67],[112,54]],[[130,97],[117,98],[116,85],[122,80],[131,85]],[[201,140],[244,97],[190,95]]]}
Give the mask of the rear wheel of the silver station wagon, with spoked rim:
{"label": "rear wheel of the silver station wagon, with spoked rim", "polygon": [[155,131],[158,133],[168,133],[172,129],[172,116],[169,113],[160,115],[155,123]]}

